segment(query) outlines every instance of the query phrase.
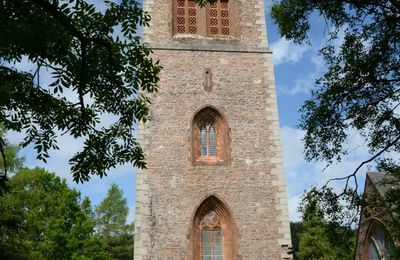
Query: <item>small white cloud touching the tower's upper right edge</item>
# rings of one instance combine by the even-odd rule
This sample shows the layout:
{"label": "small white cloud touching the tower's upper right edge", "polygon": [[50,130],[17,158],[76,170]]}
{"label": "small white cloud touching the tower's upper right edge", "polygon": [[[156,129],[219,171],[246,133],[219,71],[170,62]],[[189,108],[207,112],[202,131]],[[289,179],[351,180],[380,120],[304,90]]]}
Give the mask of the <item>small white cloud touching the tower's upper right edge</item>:
{"label": "small white cloud touching the tower's upper right edge", "polygon": [[310,48],[308,45],[297,45],[293,41],[280,38],[277,42],[271,44],[274,64],[276,66],[285,63],[297,63]]}

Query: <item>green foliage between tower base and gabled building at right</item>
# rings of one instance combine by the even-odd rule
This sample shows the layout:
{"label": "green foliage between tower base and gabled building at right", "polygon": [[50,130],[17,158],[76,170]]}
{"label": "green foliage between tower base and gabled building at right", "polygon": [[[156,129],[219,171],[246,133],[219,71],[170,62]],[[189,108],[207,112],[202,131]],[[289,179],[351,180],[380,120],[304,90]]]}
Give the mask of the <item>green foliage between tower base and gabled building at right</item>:
{"label": "green foliage between tower base and gabled building at right", "polygon": [[346,193],[340,200],[332,189],[311,189],[299,206],[304,231],[300,234],[299,259],[353,259],[355,231],[358,220],[354,194]]}

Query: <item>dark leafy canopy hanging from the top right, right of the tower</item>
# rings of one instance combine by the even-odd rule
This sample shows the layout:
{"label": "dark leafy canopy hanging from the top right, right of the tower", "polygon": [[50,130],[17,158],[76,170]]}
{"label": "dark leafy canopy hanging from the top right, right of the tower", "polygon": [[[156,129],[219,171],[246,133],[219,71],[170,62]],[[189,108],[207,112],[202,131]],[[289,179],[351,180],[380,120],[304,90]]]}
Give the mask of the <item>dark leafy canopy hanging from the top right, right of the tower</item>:
{"label": "dark leafy canopy hanging from the top right, right of the tower", "polygon": [[[400,152],[400,1],[282,0],[272,7],[281,35],[297,43],[309,42],[312,15],[325,19],[328,27],[320,50],[327,70],[301,109],[306,159],[340,162],[351,153],[345,144],[356,132],[371,157],[334,179],[345,181],[336,197],[351,191],[351,181],[357,190],[357,173],[371,162],[399,185],[399,161],[388,158]],[[391,193],[388,206],[398,211],[400,192]]]}

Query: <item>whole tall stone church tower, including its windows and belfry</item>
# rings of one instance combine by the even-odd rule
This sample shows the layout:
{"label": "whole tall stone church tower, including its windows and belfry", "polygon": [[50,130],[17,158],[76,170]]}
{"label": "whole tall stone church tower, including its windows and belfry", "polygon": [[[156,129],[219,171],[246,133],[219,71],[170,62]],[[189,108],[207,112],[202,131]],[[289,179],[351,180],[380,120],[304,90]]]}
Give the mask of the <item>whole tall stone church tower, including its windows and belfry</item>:
{"label": "whole tall stone church tower, including its windows and belfry", "polygon": [[139,126],[136,260],[290,259],[263,0],[144,0],[164,67]]}

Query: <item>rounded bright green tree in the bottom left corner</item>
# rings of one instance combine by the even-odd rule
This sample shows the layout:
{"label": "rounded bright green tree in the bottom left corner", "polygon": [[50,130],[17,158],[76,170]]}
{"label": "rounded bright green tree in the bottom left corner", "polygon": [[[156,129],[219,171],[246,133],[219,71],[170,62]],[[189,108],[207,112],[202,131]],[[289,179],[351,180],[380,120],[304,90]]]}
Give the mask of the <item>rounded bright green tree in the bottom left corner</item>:
{"label": "rounded bright green tree in the bottom left corner", "polygon": [[1,259],[109,259],[90,202],[44,169],[22,169],[0,197]]}

